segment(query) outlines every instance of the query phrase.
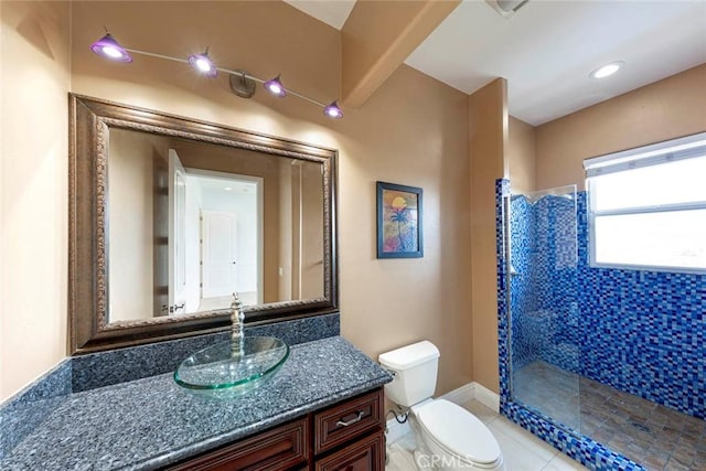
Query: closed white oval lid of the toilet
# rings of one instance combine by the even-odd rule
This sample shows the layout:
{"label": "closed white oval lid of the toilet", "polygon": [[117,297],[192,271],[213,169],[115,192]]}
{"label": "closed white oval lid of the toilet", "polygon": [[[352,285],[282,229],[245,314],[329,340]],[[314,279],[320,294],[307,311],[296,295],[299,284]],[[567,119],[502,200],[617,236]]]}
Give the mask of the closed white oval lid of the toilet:
{"label": "closed white oval lid of the toilet", "polygon": [[500,459],[500,446],[493,433],[474,415],[445,399],[434,400],[417,413],[419,424],[443,448],[479,464]]}

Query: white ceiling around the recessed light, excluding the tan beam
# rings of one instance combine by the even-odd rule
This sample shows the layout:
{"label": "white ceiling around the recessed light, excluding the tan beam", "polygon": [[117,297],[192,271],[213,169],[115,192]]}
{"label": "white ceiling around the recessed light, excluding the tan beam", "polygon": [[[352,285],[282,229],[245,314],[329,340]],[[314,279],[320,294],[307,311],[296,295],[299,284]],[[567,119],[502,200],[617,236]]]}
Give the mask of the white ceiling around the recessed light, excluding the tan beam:
{"label": "white ceiling around the recessed light, excluding the tan beam", "polygon": [[[336,29],[354,4],[286,1]],[[468,94],[505,77],[510,114],[537,126],[706,63],[706,0],[530,0],[510,18],[466,0],[405,63]]]}

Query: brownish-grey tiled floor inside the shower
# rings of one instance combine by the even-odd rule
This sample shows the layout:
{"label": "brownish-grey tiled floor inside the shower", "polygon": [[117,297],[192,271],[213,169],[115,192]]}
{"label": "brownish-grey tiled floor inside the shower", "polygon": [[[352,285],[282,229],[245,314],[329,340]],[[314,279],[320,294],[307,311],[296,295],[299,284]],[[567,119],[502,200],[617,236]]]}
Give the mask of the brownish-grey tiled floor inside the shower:
{"label": "brownish-grey tiled floor inside the shower", "polygon": [[[515,376],[515,395],[648,470],[706,470],[706,421],[544,362]],[[580,413],[580,414],[579,414]]]}

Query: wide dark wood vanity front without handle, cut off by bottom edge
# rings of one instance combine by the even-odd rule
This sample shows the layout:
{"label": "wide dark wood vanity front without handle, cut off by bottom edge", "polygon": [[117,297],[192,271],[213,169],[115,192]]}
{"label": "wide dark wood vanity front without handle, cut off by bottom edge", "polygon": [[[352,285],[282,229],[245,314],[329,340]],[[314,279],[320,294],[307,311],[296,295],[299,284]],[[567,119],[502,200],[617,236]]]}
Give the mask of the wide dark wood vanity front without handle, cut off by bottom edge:
{"label": "wide dark wood vanity front without handle, cut off by bottom edge", "polygon": [[[169,468],[170,471],[271,471],[309,460],[309,416]],[[304,464],[306,465],[306,464]]]}

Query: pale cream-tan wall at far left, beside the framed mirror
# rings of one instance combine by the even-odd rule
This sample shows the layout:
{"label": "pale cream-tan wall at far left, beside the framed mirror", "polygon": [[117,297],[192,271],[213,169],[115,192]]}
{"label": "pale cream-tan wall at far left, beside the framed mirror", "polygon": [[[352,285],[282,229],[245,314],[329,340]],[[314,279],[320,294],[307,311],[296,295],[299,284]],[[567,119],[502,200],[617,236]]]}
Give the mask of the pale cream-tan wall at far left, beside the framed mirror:
{"label": "pale cream-tan wall at far left, beside the framed mirror", "polygon": [[0,400],[66,354],[67,2],[0,2]]}

